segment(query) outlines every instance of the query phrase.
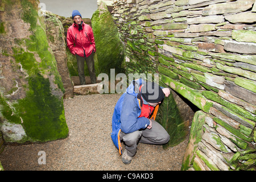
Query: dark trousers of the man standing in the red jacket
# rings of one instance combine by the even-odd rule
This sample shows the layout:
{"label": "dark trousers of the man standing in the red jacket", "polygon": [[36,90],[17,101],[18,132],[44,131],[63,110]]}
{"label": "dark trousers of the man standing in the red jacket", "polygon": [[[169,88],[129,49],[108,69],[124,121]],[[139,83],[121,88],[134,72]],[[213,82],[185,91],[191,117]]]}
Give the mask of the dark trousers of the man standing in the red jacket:
{"label": "dark trousers of the man standing in the red jacket", "polygon": [[96,74],[94,69],[94,59],[93,59],[94,52],[90,54],[88,57],[81,57],[76,55],[77,60],[77,71],[79,72],[79,81],[81,85],[85,85],[85,77],[84,77],[84,60],[86,61],[86,65],[88,67],[90,81],[92,84],[96,84]]}

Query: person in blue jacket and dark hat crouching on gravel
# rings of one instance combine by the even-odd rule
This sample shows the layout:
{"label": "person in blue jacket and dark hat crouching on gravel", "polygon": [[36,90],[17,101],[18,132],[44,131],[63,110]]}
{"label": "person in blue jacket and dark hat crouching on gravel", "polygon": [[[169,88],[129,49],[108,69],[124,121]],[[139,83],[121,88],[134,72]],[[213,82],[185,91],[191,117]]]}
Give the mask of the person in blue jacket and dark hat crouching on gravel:
{"label": "person in blue jacket and dark hat crouching on gravel", "polygon": [[[117,101],[112,117],[112,140],[122,154],[122,162],[130,164],[138,142],[166,144],[170,135],[155,121],[159,104],[170,90],[141,78],[134,80]],[[122,152],[121,140],[125,144]]]}

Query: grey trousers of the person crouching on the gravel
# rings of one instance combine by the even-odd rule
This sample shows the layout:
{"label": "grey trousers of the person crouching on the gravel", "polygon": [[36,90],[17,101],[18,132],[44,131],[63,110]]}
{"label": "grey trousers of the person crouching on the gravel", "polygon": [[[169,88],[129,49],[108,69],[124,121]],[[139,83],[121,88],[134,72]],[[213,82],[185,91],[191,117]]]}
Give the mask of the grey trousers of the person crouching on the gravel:
{"label": "grey trousers of the person crouching on the gravel", "polygon": [[129,156],[133,157],[136,154],[138,142],[147,144],[166,144],[169,141],[170,135],[163,126],[156,121],[151,121],[152,128],[150,130],[137,130],[129,134],[125,134],[122,131],[120,132],[120,139],[125,143],[125,149]]}

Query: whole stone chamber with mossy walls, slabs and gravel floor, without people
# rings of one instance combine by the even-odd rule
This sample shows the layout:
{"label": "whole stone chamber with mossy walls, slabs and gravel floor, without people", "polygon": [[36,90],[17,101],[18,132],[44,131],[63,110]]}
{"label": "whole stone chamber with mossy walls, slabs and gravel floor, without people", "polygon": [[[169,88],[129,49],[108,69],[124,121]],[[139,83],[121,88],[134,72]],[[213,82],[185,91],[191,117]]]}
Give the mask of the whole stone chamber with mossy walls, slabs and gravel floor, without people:
{"label": "whole stone chamber with mossy walls, slabs and gravel floor, without people", "polygon": [[255,170],[255,1],[104,2],[84,19],[96,37],[96,75],[157,73],[171,89],[156,117],[170,142],[139,144],[133,162],[122,164],[109,125],[121,94],[98,94],[101,81],[88,77],[77,85],[65,43],[72,20],[40,16],[32,0],[2,2],[3,168]]}

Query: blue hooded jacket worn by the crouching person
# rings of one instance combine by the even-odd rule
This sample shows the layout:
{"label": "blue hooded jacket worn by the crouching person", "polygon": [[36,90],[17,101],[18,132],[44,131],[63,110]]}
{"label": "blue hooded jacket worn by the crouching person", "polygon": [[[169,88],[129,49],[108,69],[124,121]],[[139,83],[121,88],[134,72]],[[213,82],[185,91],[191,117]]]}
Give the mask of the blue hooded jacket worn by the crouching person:
{"label": "blue hooded jacket worn by the crouching person", "polygon": [[[111,138],[115,147],[118,148],[119,154],[122,154],[121,142],[119,138],[120,131],[123,133],[132,133],[139,129],[145,129],[150,121],[148,118],[140,117],[141,107],[137,99],[139,86],[143,85],[145,81],[141,78],[131,82],[126,89],[126,92],[117,101],[112,117],[112,133]],[[136,86],[135,86],[136,85]]]}

